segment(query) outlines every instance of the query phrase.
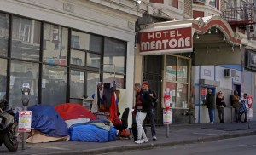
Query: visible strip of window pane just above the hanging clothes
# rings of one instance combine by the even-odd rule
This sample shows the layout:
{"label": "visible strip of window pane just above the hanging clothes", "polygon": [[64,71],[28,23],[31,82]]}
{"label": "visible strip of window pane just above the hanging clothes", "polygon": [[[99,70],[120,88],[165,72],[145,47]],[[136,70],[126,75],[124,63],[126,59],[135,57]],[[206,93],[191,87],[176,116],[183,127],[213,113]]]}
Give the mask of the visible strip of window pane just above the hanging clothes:
{"label": "visible strip of window pane just above the hanging clothes", "polygon": [[114,75],[110,73],[103,73],[103,83],[112,83],[116,82],[116,87],[119,89],[124,89],[124,76],[123,75]]}

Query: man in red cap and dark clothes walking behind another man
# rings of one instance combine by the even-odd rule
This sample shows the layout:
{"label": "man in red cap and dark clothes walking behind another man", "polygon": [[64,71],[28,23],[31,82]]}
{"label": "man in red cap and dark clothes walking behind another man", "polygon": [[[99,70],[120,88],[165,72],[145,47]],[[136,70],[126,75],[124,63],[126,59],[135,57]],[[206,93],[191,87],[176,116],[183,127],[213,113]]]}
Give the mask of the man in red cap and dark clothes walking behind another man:
{"label": "man in red cap and dark clothes walking behind another man", "polygon": [[157,138],[156,138],[156,132],[155,132],[155,123],[154,123],[154,113],[155,113],[154,103],[157,102],[157,96],[153,89],[149,89],[148,81],[143,82],[143,90],[147,91],[152,99],[152,102],[148,104],[149,107],[148,107],[147,117],[150,120],[152,139],[153,141],[156,141]]}

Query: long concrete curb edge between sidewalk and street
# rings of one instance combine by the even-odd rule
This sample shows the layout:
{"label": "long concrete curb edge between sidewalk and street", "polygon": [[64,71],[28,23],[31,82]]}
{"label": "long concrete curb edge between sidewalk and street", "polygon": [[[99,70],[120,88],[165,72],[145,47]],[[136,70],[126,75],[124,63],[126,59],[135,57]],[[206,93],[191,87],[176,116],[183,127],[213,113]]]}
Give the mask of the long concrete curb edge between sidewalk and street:
{"label": "long concrete curb edge between sidewalk and street", "polygon": [[192,143],[198,143],[198,142],[217,141],[217,140],[224,140],[224,139],[250,136],[250,135],[256,135],[256,130],[245,132],[245,133],[239,133],[239,134],[217,135],[217,136],[210,136],[206,138],[198,138],[193,140],[166,141],[166,142],[156,142],[156,143],[148,142],[142,145],[131,144],[131,145],[125,145],[125,146],[112,146],[112,147],[96,148],[96,149],[74,151],[74,152],[53,152],[50,154],[52,155],[71,155],[71,154],[88,155],[88,154],[100,154],[100,153],[106,153],[106,152],[125,152],[125,151],[131,151],[131,150],[153,149],[155,147],[160,147],[160,146],[177,146],[177,145],[192,144]]}

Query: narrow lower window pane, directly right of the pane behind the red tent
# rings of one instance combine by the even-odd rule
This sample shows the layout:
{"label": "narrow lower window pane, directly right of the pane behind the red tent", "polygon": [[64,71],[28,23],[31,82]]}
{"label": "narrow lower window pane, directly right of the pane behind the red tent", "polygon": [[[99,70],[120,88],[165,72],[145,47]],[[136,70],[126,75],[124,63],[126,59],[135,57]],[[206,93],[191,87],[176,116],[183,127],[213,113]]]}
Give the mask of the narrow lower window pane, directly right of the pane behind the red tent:
{"label": "narrow lower window pane, directly right of the pane behind the red tent", "polygon": [[84,96],[84,72],[71,70],[70,98],[81,99]]}

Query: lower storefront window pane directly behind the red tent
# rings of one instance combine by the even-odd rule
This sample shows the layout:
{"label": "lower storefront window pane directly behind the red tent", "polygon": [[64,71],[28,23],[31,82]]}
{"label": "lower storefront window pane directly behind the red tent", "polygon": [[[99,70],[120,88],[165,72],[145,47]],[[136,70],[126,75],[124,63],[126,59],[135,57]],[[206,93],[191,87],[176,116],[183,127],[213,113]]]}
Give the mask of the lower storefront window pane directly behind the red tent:
{"label": "lower storefront window pane directly behind the red tent", "polygon": [[56,106],[66,102],[67,68],[43,66],[42,104]]}

